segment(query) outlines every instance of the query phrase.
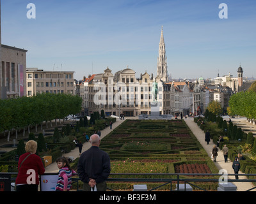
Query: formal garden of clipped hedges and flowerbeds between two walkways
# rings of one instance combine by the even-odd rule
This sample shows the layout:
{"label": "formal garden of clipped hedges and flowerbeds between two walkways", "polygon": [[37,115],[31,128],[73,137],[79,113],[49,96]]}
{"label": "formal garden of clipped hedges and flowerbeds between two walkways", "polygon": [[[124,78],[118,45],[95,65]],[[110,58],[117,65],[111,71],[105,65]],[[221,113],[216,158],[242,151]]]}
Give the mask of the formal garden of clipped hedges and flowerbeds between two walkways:
{"label": "formal garden of clipped hedges and flowerbeds between two walkways", "polygon": [[[183,120],[125,120],[105,136],[100,149],[108,152],[111,159],[109,178],[177,179],[176,175],[154,175],[159,173],[218,173],[218,169],[207,156],[196,137]],[[77,161],[72,164],[76,168]],[[112,174],[114,173],[114,174]],[[137,173],[142,175],[117,175],[115,173]],[[180,176],[190,178],[191,176]],[[192,178],[214,178],[196,176]],[[218,179],[218,178],[214,178]],[[195,182],[196,186],[215,191],[214,182]],[[80,183],[81,184],[81,183]],[[131,191],[141,182],[108,182],[114,190]],[[145,183],[143,183],[145,184]],[[161,182],[147,182],[148,189],[160,186]],[[174,190],[177,182],[172,182]],[[159,187],[170,191],[170,184]]]}

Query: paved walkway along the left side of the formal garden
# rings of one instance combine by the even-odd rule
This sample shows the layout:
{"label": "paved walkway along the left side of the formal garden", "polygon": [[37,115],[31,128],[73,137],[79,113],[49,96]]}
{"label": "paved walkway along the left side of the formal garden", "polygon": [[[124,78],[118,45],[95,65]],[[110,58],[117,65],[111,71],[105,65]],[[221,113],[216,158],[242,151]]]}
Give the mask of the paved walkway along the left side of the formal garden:
{"label": "paved walkway along the left side of the formal garden", "polygon": [[[138,117],[125,117],[124,120],[120,120],[120,119],[116,118],[116,122],[113,123],[112,129],[110,129],[108,127],[108,128],[103,129],[102,131],[100,131],[101,132],[100,139],[102,139],[102,138],[104,138],[104,136],[108,135],[111,131],[113,131],[113,129],[115,129],[120,124],[122,124],[122,122],[124,122],[126,119],[138,119]],[[90,149],[91,146],[92,145],[90,142],[84,142],[82,152]],[[79,157],[79,149],[78,149],[78,147],[76,147],[75,149],[71,150],[67,154],[62,154],[62,156],[74,157],[74,159],[76,159],[77,157]],[[58,173],[58,171],[59,171],[59,169],[58,169],[55,161],[52,161],[52,164],[49,164],[48,166],[45,167],[45,173]]]}

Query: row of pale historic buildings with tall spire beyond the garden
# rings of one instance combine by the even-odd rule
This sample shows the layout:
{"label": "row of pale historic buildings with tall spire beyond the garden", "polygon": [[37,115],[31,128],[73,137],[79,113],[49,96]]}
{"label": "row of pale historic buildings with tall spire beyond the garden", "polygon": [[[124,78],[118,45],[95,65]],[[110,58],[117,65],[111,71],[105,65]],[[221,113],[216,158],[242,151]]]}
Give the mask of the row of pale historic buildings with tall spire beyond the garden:
{"label": "row of pale historic buildings with tall spire beyond the garden", "polygon": [[227,109],[230,96],[243,87],[243,69],[237,69],[237,78],[232,75],[214,78],[213,84],[207,84],[200,77],[195,82],[184,79],[180,82],[168,82],[166,51],[163,27],[157,57],[157,76],[147,71],[136,78],[136,72],[125,68],[116,73],[106,68],[104,73],[84,77],[77,82],[77,94],[83,98],[82,114],[104,110],[106,115],[138,116],[150,115],[152,102],[152,84],[157,82],[157,102],[161,115],[200,115],[205,112],[211,101],[221,103]]}

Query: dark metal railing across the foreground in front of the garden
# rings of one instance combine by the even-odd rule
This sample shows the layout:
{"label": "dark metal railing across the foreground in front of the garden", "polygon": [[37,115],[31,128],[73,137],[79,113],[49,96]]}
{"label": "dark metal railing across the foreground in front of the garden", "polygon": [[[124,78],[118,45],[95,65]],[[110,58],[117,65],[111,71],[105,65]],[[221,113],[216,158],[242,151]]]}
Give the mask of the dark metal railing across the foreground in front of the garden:
{"label": "dark metal railing across the foreground in front of the garden", "polygon": [[[9,175],[17,175],[17,173],[3,173],[3,174],[9,174]],[[127,177],[131,177],[131,176],[158,176],[158,177],[163,177],[163,178],[159,178],[159,179],[147,179],[147,178],[113,178],[116,176],[127,176]],[[193,176],[193,177],[197,177],[197,178],[188,178],[189,176]],[[220,177],[222,177],[223,175],[218,174],[218,173],[110,173],[109,178],[106,180],[106,182],[125,182],[125,183],[134,183],[134,182],[143,182],[145,184],[147,183],[163,183],[160,184],[157,187],[154,187],[152,189],[149,189],[148,191],[154,191],[156,189],[159,189],[160,187],[166,186],[168,184],[170,184],[170,191],[173,191],[172,189],[172,184],[177,184],[177,189],[175,189],[175,191],[180,191],[180,184],[185,184],[185,189],[183,189],[182,191],[186,191],[186,184],[189,184],[191,186],[194,187],[194,189],[198,189],[200,191],[207,191],[206,189],[203,189],[200,186],[197,186],[195,183],[192,184],[192,182],[216,182],[216,184],[218,184],[219,182],[222,182],[222,180],[220,180]],[[246,176],[246,177],[255,177],[256,178],[256,174],[227,174],[225,175],[227,177],[227,180],[225,180],[225,182],[255,182],[256,183],[256,179],[230,179],[230,177],[241,177],[241,176]],[[166,177],[170,177],[170,178],[166,178]],[[204,178],[207,177],[207,178]],[[209,179],[209,177],[213,177],[213,179]],[[214,179],[214,177],[216,177],[216,179]],[[218,179],[217,179],[218,177]],[[12,182],[15,182],[16,177],[11,177]],[[79,178],[76,177],[72,177],[72,184],[76,184],[77,186],[77,191],[82,191],[79,190]],[[253,189],[256,189],[255,187],[252,187],[250,189],[247,189],[246,191],[252,191]],[[113,189],[109,189],[109,191],[115,191]]]}

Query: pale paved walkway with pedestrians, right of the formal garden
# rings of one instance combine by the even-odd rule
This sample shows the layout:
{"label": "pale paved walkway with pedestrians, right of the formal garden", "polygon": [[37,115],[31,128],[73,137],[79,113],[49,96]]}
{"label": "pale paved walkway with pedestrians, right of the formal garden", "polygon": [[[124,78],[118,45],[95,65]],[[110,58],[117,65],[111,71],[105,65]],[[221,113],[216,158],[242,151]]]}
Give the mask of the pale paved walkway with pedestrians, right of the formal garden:
{"label": "pale paved walkway with pedestrians, right of the formal garden", "polygon": [[[194,133],[197,140],[201,143],[202,147],[204,147],[208,156],[211,157],[212,147],[215,144],[211,140],[209,145],[207,145],[207,143],[204,141],[205,133],[204,133],[204,131],[202,131],[202,129],[200,129],[197,126],[197,124],[194,122],[193,117],[188,117],[187,119],[184,119],[184,121],[186,122],[188,127],[191,129],[191,131]],[[249,122],[246,122],[245,118],[232,119],[232,121],[234,121],[234,122],[236,121],[237,124],[239,124],[239,122],[243,122],[243,124],[248,124],[248,126],[250,126]],[[255,128],[255,126],[253,128]],[[227,147],[228,147],[228,145],[227,145]],[[221,169],[227,170],[228,174],[234,174],[234,170],[232,169],[232,163],[233,163],[233,161],[230,161],[229,159],[228,159],[228,162],[225,163],[223,152],[222,152],[222,150],[219,149],[218,156],[217,156],[217,159],[216,159],[216,163],[214,163],[216,165],[216,167],[219,170],[221,170]],[[244,173],[239,171],[239,174],[244,174]],[[230,177],[228,177],[228,179],[235,179],[235,177],[230,176]],[[239,176],[239,179],[247,179],[247,177],[246,176]],[[251,182],[233,182],[233,184],[235,184],[237,186],[237,191],[246,191],[246,190],[251,189],[252,187],[254,187]],[[252,191],[256,191],[256,189],[253,189]]]}

